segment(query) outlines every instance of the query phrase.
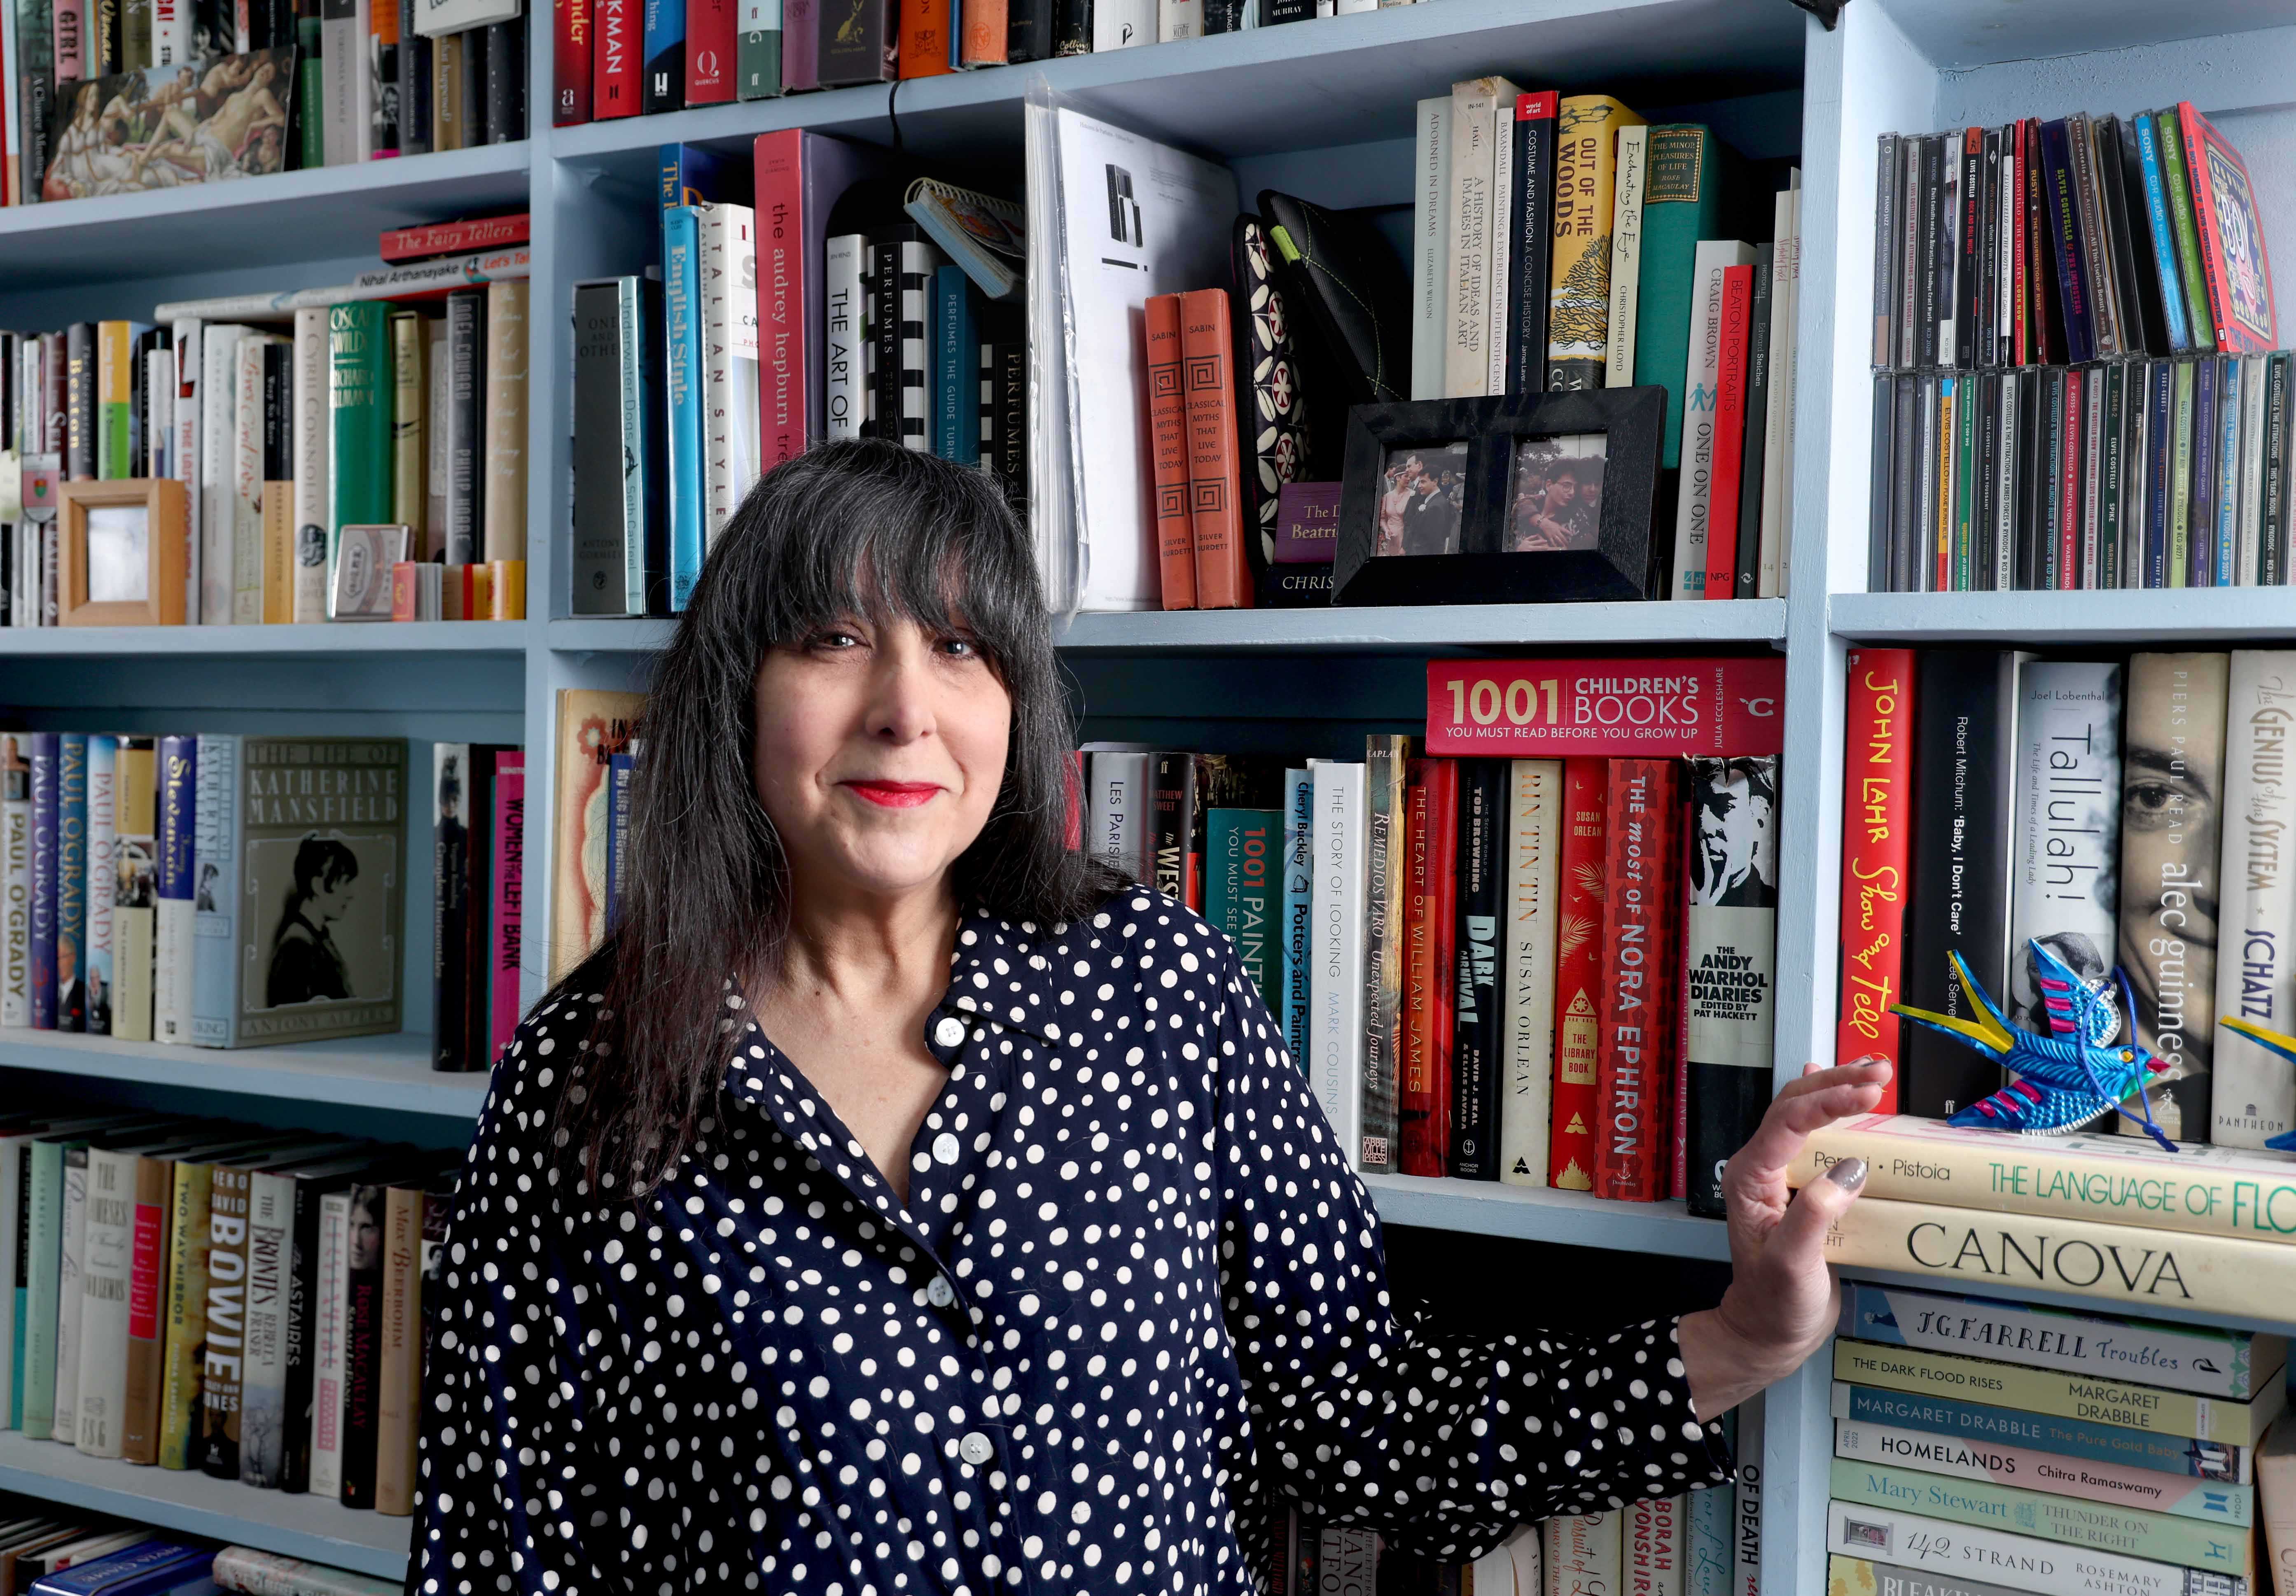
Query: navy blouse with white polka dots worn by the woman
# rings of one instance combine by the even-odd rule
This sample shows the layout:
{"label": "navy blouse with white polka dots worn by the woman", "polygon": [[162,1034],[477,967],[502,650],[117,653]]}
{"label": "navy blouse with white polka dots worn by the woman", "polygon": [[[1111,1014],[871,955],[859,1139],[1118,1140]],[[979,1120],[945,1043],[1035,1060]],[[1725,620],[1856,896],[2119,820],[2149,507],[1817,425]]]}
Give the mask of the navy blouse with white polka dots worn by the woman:
{"label": "navy blouse with white polka dots worn by the woman", "polygon": [[746,1015],[675,1176],[602,1199],[553,1157],[597,1001],[494,1072],[416,1589],[1238,1594],[1286,1500],[1465,1559],[1727,1479],[1671,1323],[1398,1323],[1279,1026],[1169,898],[964,921],[907,1206]]}

